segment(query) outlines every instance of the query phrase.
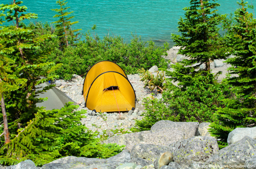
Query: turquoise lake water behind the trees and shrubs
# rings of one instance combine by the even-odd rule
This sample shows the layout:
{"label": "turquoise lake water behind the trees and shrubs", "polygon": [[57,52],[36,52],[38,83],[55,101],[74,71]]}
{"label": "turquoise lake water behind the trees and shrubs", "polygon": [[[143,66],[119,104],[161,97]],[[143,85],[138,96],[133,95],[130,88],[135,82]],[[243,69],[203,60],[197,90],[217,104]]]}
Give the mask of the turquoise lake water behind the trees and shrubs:
{"label": "turquoise lake water behind the trees and shrubs", "polygon": [[[238,0],[219,0],[218,12],[229,14],[238,8]],[[10,1],[1,0],[0,4]],[[173,45],[171,33],[177,33],[178,20],[184,18],[182,8],[189,6],[189,0],[67,0],[69,11],[74,11],[73,21],[79,21],[75,28],[81,28],[81,33],[87,32],[97,25],[97,34],[102,38],[109,35],[120,35],[128,43],[131,32],[141,35],[142,40],[153,40],[157,45],[165,41]],[[251,1],[250,1],[251,3]],[[256,0],[252,0],[256,5]],[[55,0],[23,0],[28,12],[38,14],[37,21],[54,22],[56,12],[50,9],[59,8]],[[252,11],[251,11],[252,12]]]}

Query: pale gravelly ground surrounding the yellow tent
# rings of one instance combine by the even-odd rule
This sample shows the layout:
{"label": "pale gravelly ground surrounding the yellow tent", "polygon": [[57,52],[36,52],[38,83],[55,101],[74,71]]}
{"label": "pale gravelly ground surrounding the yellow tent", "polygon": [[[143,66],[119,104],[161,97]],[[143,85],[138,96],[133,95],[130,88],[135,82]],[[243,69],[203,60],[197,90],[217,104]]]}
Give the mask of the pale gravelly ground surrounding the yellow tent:
{"label": "pale gravelly ground surrounding the yellow tent", "polygon": [[[143,82],[140,81],[141,78],[138,74],[127,75],[127,77],[133,85],[138,100],[138,102],[135,104],[135,110],[134,112],[120,112],[120,114],[119,112],[104,112],[103,114],[106,114],[107,117],[106,121],[102,119],[99,113],[96,113],[94,115],[92,114],[91,110],[84,107],[85,100],[82,95],[82,88],[84,82],[83,78],[78,75],[74,75],[74,78],[71,81],[58,80],[57,82],[55,82],[55,84],[56,86],[59,86],[57,87],[59,90],[63,91],[70,99],[72,99],[79,105],[79,108],[77,109],[78,111],[82,109],[87,111],[87,113],[85,114],[86,118],[82,119],[82,123],[85,124],[86,127],[90,130],[98,130],[99,132],[102,132],[102,130],[125,129],[125,131],[129,131],[130,128],[134,126],[136,119],[141,120],[143,118],[143,98],[150,96],[151,92],[155,92],[156,98],[161,97],[161,94],[157,94],[156,90],[150,91],[149,88],[144,88]],[[97,126],[101,128],[97,129]]]}

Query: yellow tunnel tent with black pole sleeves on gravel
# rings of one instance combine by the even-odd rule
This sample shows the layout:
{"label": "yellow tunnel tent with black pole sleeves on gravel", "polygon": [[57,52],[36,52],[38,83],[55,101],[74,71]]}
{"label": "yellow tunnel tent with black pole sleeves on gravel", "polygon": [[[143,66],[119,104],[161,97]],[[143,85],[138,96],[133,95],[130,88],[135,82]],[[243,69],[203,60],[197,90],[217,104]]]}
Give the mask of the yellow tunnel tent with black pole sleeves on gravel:
{"label": "yellow tunnel tent with black pole sleeves on gravel", "polygon": [[123,69],[111,61],[94,64],[85,76],[85,106],[96,112],[134,109],[136,95]]}

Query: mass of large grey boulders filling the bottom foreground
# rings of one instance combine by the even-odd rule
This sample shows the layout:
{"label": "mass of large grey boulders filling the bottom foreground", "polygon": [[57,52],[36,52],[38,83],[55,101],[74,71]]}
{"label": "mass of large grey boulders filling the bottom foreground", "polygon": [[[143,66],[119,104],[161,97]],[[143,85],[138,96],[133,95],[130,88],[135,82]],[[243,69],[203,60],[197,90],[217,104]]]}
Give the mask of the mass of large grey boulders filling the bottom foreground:
{"label": "mass of large grey boulders filling the bottom foreground", "polygon": [[42,167],[26,160],[6,169],[256,168],[256,127],[236,128],[229,134],[229,146],[221,150],[214,137],[206,136],[207,128],[207,123],[161,120],[149,131],[110,137],[106,143],[126,149],[107,159],[68,156]]}

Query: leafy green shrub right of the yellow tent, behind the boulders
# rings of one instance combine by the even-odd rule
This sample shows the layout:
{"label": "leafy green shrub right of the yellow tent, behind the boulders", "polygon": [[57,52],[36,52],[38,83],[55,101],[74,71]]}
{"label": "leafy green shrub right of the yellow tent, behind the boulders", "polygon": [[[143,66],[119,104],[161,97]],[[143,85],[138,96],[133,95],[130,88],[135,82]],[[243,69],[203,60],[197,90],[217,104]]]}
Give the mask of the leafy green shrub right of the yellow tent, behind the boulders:
{"label": "leafy green shrub right of the yellow tent, behind the boulders", "polygon": [[146,100],[146,112],[141,121],[137,120],[134,132],[150,130],[159,120],[171,121],[216,121],[214,113],[218,107],[225,107],[222,99],[230,96],[229,86],[225,84],[211,84],[211,77],[198,76],[190,86],[183,88],[168,82],[163,100]]}

